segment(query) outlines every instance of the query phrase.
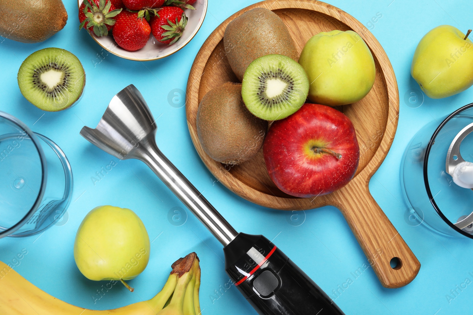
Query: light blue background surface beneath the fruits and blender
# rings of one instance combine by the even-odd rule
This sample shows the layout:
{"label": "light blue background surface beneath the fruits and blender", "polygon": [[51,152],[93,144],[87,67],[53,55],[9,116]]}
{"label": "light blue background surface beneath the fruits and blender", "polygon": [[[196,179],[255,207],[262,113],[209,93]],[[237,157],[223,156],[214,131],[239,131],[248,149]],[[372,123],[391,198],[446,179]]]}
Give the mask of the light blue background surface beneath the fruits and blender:
{"label": "light blue background surface beneath the fruits and blender", "polygon": [[[458,27],[463,32],[472,28],[473,9],[469,1],[330,1],[365,26],[377,12],[382,14],[370,29],[394,67],[400,94],[400,116],[393,146],[371,180],[370,191],[422,264],[417,278],[400,289],[383,288],[371,268],[358,279],[350,274],[367,263],[367,258],[337,209],[324,207],[306,211],[304,223],[293,226],[288,223],[288,213],[247,202],[216,182],[193,147],[185,108],[175,108],[168,103],[167,96],[171,90],[185,90],[193,59],[211,31],[254,1],[210,0],[207,17],[191,43],[164,60],[146,63],[123,60],[112,54],[100,61],[101,48],[85,31],[78,31],[76,2],[66,2],[68,23],[49,40],[38,44],[5,40],[0,44],[0,110],[52,138],[69,157],[74,173],[74,192],[68,221],[53,226],[39,238],[0,239],[0,260],[10,263],[22,248],[26,248],[28,254],[15,270],[28,281],[69,303],[107,309],[153,297],[162,288],[171,263],[195,251],[201,258],[202,313],[256,314],[235,288],[227,290],[212,303],[210,295],[228,282],[221,246],[190,213],[182,226],[169,223],[167,215],[170,209],[182,205],[164,184],[141,162],[118,161],[79,136],[82,126],[96,126],[115,93],[134,84],[147,100],[153,115],[160,117],[157,121],[158,146],[236,230],[275,238],[275,244],[332,298],[336,298],[333,289],[349,277],[353,280],[336,299],[347,315],[471,313],[473,285],[450,303],[446,295],[465,278],[473,280],[468,273],[473,272],[473,241],[432,234],[422,226],[407,224],[404,220],[407,206],[403,202],[399,179],[402,154],[417,130],[473,101],[473,89],[469,89],[443,100],[425,97],[418,108],[409,107],[404,102],[404,94],[417,87],[410,76],[410,65],[420,38],[442,24]],[[16,77],[21,62],[30,53],[45,47],[71,51],[85,68],[87,84],[84,96],[77,106],[67,111],[43,112],[27,102],[19,92]],[[94,186],[91,177],[112,160],[118,164]],[[159,237],[151,244],[148,267],[142,275],[130,281],[135,292],[130,293],[115,285],[94,304],[92,297],[106,282],[89,281],[83,277],[74,263],[72,248],[75,232],[84,216],[102,204],[131,208],[144,221],[150,239]]]}

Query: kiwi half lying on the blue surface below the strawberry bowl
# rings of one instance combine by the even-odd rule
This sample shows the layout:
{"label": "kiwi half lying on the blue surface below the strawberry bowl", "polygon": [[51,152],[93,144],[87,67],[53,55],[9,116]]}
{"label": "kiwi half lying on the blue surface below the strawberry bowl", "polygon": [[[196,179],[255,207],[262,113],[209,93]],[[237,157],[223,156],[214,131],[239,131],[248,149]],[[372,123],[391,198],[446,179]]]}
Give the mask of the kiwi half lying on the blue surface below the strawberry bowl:
{"label": "kiwi half lying on the blue surface below the strawberry bowl", "polygon": [[18,70],[21,94],[44,111],[62,111],[82,94],[86,74],[79,59],[61,48],[44,48],[29,55]]}

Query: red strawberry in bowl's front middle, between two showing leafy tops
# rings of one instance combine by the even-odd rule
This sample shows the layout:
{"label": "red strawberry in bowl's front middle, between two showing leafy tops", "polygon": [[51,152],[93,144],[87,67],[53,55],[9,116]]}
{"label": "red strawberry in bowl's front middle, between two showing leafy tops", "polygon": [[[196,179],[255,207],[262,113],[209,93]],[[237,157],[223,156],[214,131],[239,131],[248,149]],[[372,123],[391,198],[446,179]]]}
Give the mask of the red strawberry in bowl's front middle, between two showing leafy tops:
{"label": "red strawberry in bowl's front middle, between two showing leafy tops", "polygon": [[151,28],[149,23],[138,17],[138,12],[122,11],[116,17],[114,40],[127,51],[137,51],[148,43]]}

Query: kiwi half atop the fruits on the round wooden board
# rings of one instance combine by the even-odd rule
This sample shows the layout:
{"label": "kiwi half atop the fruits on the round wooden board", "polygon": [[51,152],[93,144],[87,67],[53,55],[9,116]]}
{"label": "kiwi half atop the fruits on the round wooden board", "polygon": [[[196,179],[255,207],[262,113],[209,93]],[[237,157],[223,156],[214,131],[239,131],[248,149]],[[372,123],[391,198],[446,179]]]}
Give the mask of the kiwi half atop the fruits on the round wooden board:
{"label": "kiwi half atop the fruits on the round wooden board", "polygon": [[304,104],[308,93],[309,80],[304,68],[283,55],[255,59],[243,76],[243,102],[261,119],[288,117]]}

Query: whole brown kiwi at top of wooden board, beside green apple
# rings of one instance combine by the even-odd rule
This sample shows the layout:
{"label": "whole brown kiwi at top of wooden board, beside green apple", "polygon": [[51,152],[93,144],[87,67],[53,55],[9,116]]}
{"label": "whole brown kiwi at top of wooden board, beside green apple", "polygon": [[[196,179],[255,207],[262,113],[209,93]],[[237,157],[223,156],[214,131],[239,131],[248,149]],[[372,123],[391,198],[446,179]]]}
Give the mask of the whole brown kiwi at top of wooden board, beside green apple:
{"label": "whole brown kiwi at top of wooden board, beside green apple", "polygon": [[223,43],[228,62],[240,81],[256,58],[279,54],[295,61],[299,59],[296,44],[284,22],[264,8],[249,10],[228,23]]}

